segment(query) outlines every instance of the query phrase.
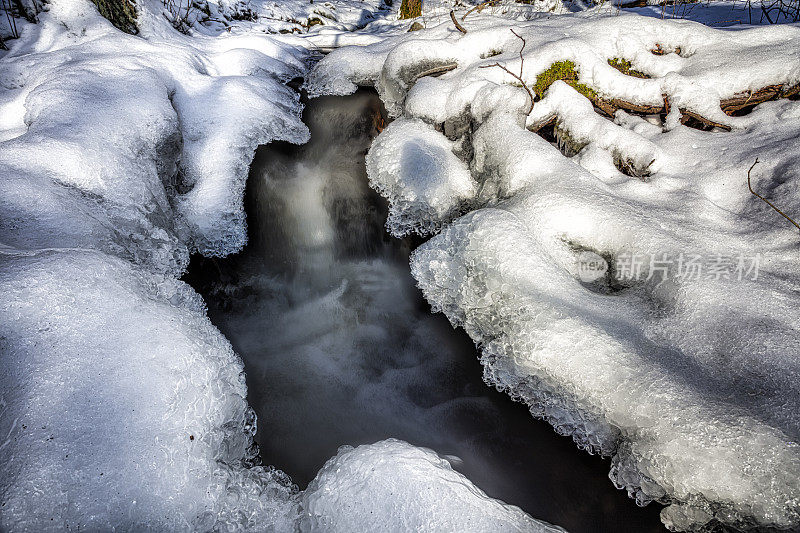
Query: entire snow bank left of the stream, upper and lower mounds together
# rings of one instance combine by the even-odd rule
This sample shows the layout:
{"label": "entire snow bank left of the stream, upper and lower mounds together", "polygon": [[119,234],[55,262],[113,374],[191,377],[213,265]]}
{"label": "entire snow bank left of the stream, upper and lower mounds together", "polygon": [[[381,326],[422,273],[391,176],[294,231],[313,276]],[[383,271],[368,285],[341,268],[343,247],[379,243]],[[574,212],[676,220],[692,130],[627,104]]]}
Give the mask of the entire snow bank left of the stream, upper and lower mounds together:
{"label": "entire snow bank left of the stream, upper and lower mounds together", "polygon": [[303,54],[39,18],[0,57],[0,529],[292,530],[241,361],[175,277],[244,245],[256,146],[306,140]]}

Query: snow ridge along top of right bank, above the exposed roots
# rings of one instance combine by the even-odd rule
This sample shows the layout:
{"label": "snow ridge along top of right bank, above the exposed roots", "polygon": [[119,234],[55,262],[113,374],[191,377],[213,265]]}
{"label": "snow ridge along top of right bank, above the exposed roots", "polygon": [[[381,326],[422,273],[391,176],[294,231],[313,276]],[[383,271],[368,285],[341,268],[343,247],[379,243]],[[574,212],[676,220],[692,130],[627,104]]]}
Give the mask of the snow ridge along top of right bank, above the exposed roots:
{"label": "snow ridge along top of right bank, above the exposed roots", "polygon": [[[672,107],[736,128],[746,127],[747,117],[723,113],[721,99],[800,82],[800,51],[794,45],[800,30],[794,26],[723,31],[689,21],[593,13],[514,26],[484,16],[465,24],[470,31],[463,36],[452,23],[444,23],[421,35],[415,32],[380,45],[336,50],[312,72],[311,90],[341,92],[344,80],[349,80],[352,92],[355,84],[374,83],[394,115],[405,105],[414,109],[415,116],[442,122],[443,117],[465,112],[483,92],[516,81],[500,68],[486,68],[499,62],[512,72],[520,71],[522,41],[508,31],[510,27],[536,28],[523,31],[522,77],[530,86],[554,62],[568,60],[575,63],[580,82],[601,97],[663,106],[666,95]],[[573,30],[576,25],[580,32]],[[432,39],[444,42],[425,46]],[[664,53],[654,54],[657,49]],[[720,60],[723,57],[725,61]],[[630,61],[650,78],[623,74],[608,64],[614,58]],[[415,85],[420,73],[451,62],[460,68]]]}

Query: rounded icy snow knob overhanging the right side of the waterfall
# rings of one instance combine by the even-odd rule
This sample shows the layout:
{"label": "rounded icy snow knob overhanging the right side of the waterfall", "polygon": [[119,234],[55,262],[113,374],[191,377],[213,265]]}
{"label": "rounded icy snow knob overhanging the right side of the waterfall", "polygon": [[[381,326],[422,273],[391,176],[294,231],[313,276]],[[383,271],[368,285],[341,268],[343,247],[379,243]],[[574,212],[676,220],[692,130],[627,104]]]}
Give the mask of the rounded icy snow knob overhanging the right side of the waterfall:
{"label": "rounded icy snow knob overhanging the right side of the waterfall", "polygon": [[436,232],[465,209],[476,193],[453,143],[421,120],[398,119],[367,156],[370,185],[389,200],[386,227],[401,237]]}

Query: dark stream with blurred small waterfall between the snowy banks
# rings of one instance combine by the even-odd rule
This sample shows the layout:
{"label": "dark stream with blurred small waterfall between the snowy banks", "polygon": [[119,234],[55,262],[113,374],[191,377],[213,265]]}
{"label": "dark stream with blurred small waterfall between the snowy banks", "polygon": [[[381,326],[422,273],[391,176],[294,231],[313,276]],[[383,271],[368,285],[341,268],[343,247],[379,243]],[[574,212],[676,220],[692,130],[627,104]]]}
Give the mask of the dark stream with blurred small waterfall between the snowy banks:
{"label": "dark stream with blurred small waterfall between the snowy banks", "polygon": [[388,437],[452,455],[490,496],[571,532],[664,531],[608,480],[608,462],[487,387],[470,339],[432,315],[412,243],[383,231],[364,155],[372,92],[311,101],[311,142],[261,147],[248,248],[194,260],[187,281],[245,362],[263,460],[303,488],[339,446]]}

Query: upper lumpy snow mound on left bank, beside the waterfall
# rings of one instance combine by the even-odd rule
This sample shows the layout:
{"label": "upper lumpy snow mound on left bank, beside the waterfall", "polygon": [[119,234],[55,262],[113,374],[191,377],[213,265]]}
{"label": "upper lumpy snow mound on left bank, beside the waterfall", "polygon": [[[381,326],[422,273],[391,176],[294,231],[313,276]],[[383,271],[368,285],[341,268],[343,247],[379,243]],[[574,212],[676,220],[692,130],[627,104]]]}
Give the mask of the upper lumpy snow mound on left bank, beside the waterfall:
{"label": "upper lumpy snow mound on left bank, beside the waterfall", "polygon": [[40,19],[0,58],[5,242],[99,247],[176,273],[187,250],[240,249],[255,148],[308,136],[283,84],[302,72],[300,51],[190,39],[147,10],[145,40],[82,0]]}

